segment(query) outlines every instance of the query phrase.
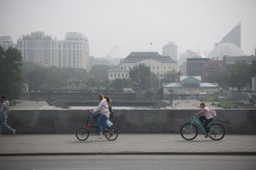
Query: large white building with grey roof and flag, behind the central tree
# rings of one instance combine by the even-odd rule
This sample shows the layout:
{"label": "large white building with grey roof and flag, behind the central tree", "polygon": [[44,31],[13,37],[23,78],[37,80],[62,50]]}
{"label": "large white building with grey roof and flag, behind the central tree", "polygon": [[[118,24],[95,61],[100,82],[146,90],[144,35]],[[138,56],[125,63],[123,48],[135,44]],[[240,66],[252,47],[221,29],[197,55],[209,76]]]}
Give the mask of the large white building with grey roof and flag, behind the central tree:
{"label": "large white building with grey roof and flag, behind the central tree", "polygon": [[132,52],[126,58],[120,60],[120,68],[109,69],[109,80],[116,78],[129,78],[130,69],[139,64],[150,67],[150,71],[160,76],[168,71],[177,70],[177,62],[169,56],[161,56],[157,52]]}

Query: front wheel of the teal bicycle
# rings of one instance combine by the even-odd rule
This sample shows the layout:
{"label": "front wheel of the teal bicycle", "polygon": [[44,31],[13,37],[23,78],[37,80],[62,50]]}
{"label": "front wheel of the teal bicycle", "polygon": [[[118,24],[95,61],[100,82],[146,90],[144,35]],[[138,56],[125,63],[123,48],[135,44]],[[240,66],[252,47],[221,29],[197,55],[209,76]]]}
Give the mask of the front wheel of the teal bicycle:
{"label": "front wheel of the teal bicycle", "polygon": [[197,137],[197,134],[197,126],[195,126],[194,124],[186,123],[183,126],[181,126],[180,135],[187,141],[195,139]]}

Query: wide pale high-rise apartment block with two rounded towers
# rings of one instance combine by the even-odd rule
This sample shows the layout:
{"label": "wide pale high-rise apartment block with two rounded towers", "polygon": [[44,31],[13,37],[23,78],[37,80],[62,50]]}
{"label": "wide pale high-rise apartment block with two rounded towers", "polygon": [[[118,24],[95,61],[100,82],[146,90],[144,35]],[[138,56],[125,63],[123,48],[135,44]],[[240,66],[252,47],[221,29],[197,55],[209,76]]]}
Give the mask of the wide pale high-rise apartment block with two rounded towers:
{"label": "wide pale high-rise apartment block with two rounded towers", "polygon": [[67,32],[64,40],[52,39],[44,32],[32,32],[19,38],[17,48],[25,61],[47,66],[87,68],[88,40],[78,32]]}

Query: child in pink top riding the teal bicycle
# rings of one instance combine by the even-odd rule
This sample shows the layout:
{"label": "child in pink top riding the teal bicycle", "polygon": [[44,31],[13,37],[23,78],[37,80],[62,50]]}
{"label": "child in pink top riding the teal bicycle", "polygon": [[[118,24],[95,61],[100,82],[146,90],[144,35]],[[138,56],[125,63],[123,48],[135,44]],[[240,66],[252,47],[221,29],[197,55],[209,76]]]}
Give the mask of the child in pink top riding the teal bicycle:
{"label": "child in pink top riding the teal bicycle", "polygon": [[204,113],[204,116],[200,116],[199,120],[200,122],[204,123],[204,129],[206,129],[206,138],[208,138],[208,136],[210,135],[209,133],[209,128],[207,127],[209,125],[210,122],[213,121],[213,116],[210,113],[210,109],[208,107],[206,107],[206,104],[201,103],[200,104],[200,108],[203,109],[198,113],[194,113],[194,116],[198,116]]}

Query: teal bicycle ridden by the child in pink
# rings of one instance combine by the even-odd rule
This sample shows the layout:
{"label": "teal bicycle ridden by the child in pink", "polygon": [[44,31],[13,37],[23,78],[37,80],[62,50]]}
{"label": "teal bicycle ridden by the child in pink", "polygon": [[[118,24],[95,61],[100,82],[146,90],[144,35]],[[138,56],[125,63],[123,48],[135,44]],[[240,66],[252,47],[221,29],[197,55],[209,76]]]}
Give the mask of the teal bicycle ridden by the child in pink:
{"label": "teal bicycle ridden by the child in pink", "polygon": [[[215,123],[216,120],[213,120],[209,123],[209,133],[210,138],[214,141],[219,141],[225,136],[225,129],[220,123]],[[202,133],[206,135],[206,130],[204,129],[204,124],[200,122],[200,120],[196,116],[191,116],[191,122],[185,123],[183,126],[181,126],[180,129],[180,135],[182,138],[190,141],[197,137],[198,135],[198,128],[197,126],[202,129]]]}

